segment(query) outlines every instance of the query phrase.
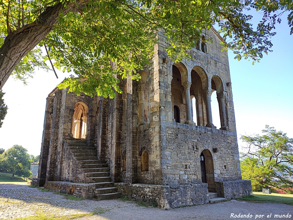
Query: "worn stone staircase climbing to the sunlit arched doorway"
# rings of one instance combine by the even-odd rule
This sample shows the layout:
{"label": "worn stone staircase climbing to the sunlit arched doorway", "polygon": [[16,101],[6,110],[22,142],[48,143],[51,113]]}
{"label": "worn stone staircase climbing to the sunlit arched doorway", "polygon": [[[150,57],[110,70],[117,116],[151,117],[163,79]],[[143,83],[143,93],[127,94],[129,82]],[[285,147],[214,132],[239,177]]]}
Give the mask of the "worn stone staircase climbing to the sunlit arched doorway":
{"label": "worn stone staircase climbing to the sunlit arched doorway", "polygon": [[117,199],[120,192],[117,192],[114,182],[111,181],[108,164],[100,163],[98,160],[97,150],[94,147],[88,147],[83,139],[66,142],[74,159],[80,165],[84,182],[95,185],[95,199]]}

